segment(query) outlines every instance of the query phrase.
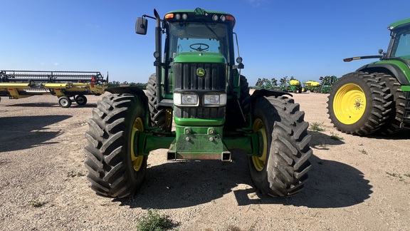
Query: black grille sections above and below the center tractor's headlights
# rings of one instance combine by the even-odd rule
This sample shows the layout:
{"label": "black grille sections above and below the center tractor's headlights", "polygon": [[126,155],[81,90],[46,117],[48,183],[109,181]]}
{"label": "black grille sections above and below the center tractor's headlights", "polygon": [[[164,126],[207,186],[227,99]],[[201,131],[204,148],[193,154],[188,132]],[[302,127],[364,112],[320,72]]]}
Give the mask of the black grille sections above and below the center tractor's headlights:
{"label": "black grille sections above and below the center tractor's headlights", "polygon": [[[204,76],[196,71],[203,68]],[[204,92],[226,92],[225,63],[175,63],[174,92],[190,92],[203,95]],[[225,107],[181,107],[175,106],[177,118],[224,118]]]}

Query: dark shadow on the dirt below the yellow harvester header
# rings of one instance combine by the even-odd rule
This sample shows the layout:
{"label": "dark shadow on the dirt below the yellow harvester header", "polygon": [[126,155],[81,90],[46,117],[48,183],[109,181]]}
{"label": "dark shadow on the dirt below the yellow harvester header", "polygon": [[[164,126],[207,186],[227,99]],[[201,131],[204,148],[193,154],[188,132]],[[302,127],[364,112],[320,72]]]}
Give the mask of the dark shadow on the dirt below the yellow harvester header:
{"label": "dark shadow on the dirt below the yellow harvester header", "polygon": [[59,130],[45,128],[71,116],[13,116],[0,117],[0,153],[51,144],[61,134]]}

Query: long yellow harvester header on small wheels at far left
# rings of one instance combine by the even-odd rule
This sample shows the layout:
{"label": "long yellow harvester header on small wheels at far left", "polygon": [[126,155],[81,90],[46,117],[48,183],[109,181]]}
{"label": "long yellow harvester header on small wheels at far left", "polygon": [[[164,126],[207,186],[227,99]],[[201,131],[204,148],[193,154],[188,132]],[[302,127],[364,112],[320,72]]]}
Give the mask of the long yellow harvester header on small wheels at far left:
{"label": "long yellow harvester header on small wheels at far left", "polygon": [[108,76],[104,79],[98,71],[0,71],[0,96],[53,95],[63,108],[69,108],[72,101],[85,105],[85,95],[100,96],[107,86]]}

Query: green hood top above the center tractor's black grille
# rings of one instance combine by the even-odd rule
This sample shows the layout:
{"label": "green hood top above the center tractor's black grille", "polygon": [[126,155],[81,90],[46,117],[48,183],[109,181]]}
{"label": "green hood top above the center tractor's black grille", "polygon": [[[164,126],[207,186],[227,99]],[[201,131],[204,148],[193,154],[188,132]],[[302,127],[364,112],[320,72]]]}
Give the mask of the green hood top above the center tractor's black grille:
{"label": "green hood top above the center tractor's black grille", "polygon": [[226,63],[221,53],[182,52],[174,58],[175,63]]}

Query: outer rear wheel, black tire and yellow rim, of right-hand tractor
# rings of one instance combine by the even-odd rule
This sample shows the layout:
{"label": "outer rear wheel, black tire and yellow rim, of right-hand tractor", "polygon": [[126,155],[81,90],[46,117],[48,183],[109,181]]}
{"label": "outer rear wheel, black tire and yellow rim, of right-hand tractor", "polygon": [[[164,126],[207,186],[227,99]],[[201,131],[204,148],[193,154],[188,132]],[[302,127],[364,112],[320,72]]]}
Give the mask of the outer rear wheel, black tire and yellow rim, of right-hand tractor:
{"label": "outer rear wheel, black tire and yellow rim, of right-hand tractor", "polygon": [[329,118],[343,133],[374,133],[389,117],[390,97],[389,88],[382,86],[372,74],[348,73],[330,91],[327,101]]}

